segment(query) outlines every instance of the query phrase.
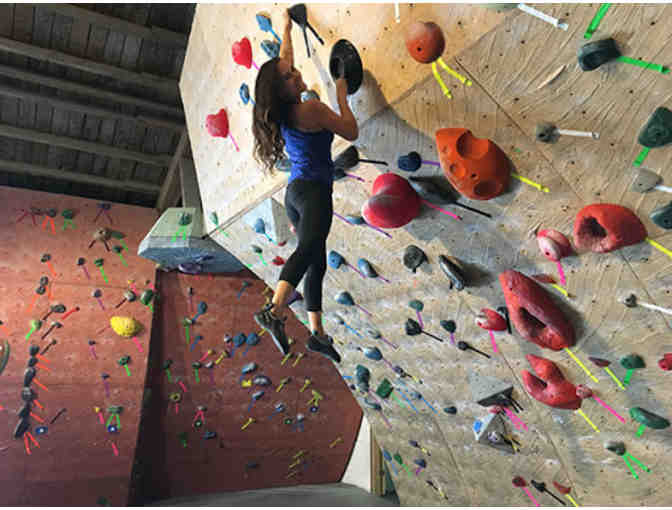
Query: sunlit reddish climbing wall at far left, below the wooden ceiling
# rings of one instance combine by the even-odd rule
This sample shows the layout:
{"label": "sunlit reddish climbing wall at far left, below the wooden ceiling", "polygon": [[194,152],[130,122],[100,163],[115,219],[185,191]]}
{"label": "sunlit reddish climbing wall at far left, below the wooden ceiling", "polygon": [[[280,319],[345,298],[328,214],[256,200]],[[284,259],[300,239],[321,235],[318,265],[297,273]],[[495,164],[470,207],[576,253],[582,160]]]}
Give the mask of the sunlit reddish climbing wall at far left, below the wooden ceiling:
{"label": "sunlit reddish climbing wall at far left, below the wooden ceiling", "polygon": [[[22,209],[31,206],[55,208],[59,215],[54,219],[55,229],[42,229],[44,216],[33,225],[30,216]],[[75,211],[75,229],[62,230],[64,209]],[[11,348],[9,362],[0,375],[0,424],[2,424],[2,463],[0,467],[0,493],[4,505],[28,506],[94,506],[99,497],[107,498],[112,505],[127,502],[131,467],[138,434],[138,422],[142,405],[143,383],[146,372],[147,346],[151,332],[151,313],[139,301],[114,306],[122,299],[128,287],[127,280],[135,280],[139,290],[145,282],[153,283],[154,264],[135,255],[145,232],[156,220],[151,209],[112,204],[109,215],[98,221],[96,202],[77,197],[55,195],[16,188],[0,188],[0,232],[3,244],[0,248],[0,310],[3,321],[0,339],[8,340]],[[123,252],[127,266],[113,252],[97,243],[88,248],[91,234],[99,227],[108,227],[125,234],[128,251]],[[110,241],[110,246],[117,244]],[[42,254],[51,255],[54,273],[46,264],[40,263]],[[86,259],[86,268],[91,276],[77,267],[78,257]],[[104,259],[104,270],[109,283],[103,281],[100,271],[94,266],[96,258]],[[47,292],[30,306],[36,296],[38,280],[47,276],[51,283]],[[102,291],[101,302],[105,310],[91,296],[94,289]],[[30,341],[25,336],[30,329],[30,319],[42,318],[50,303],[60,302],[67,310],[79,311],[65,319],[53,314]],[[67,312],[66,312],[67,313]],[[113,315],[130,315],[143,326],[137,335],[138,343],[144,346],[139,352],[131,339],[118,337],[110,328],[101,330]],[[63,327],[52,331],[45,340],[52,319]],[[36,405],[30,432],[39,442],[39,447],[30,444],[28,455],[23,440],[14,439],[14,427],[18,422],[16,411],[21,407],[23,371],[28,361],[28,346],[35,343],[44,348],[51,339],[57,344],[44,355],[47,368],[37,368],[36,379],[47,389],[32,384],[44,409]],[[97,359],[93,359],[87,340],[93,339]],[[126,376],[117,360],[131,356]],[[101,372],[110,374],[110,397],[106,397],[101,381]],[[94,406],[101,407],[104,418],[107,407],[123,406],[121,430],[110,434],[98,422]],[[57,412],[66,408],[52,425],[49,421]],[[35,428],[45,421],[46,435],[35,436]],[[115,456],[113,441],[119,455]]]}

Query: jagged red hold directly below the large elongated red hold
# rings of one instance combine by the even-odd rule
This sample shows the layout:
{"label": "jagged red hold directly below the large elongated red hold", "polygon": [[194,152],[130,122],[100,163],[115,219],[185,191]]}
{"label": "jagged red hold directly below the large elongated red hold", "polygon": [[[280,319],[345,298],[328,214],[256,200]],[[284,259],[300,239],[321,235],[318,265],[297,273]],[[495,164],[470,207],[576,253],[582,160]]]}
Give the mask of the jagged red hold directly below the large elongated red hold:
{"label": "jagged red hold directly below the large elongated red hold", "polygon": [[555,363],[534,354],[528,354],[525,358],[530,362],[532,370],[539,376],[527,370],[521,371],[523,385],[534,399],[559,409],[581,407],[581,399],[576,395],[576,386],[565,379]]}

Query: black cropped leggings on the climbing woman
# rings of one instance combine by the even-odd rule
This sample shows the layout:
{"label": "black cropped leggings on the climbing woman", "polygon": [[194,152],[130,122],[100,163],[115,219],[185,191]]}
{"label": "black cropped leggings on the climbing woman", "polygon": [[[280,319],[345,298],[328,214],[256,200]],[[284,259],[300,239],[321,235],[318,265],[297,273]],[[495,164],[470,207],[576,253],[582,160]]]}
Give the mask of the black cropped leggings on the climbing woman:
{"label": "black cropped leggings on the climbing woman", "polygon": [[327,236],[334,204],[327,184],[294,179],[285,194],[287,216],[296,228],[299,245],[282,268],[280,279],[292,287],[306,275],[303,297],[306,310],[322,311],[322,280],[327,272]]}

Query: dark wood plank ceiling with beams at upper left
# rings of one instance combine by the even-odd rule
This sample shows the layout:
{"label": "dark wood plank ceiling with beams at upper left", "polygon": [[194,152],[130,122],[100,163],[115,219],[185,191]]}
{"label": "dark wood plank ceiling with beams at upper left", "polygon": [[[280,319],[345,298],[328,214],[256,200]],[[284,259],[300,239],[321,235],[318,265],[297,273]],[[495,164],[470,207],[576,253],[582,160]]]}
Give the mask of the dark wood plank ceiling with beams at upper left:
{"label": "dark wood plank ceiling with beams at upper left", "polygon": [[0,4],[0,185],[177,205],[174,174],[191,159],[178,80],[194,11]]}

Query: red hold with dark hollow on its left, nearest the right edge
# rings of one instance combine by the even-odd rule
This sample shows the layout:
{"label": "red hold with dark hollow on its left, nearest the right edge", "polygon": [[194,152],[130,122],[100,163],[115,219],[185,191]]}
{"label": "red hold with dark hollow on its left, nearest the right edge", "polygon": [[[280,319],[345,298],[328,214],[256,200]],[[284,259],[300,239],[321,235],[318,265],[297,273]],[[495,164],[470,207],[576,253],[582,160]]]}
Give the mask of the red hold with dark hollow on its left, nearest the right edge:
{"label": "red hold with dark hollow on its left, nearest the right edge", "polygon": [[635,213],[616,204],[584,207],[574,220],[574,244],[580,250],[607,253],[646,239],[646,227]]}

